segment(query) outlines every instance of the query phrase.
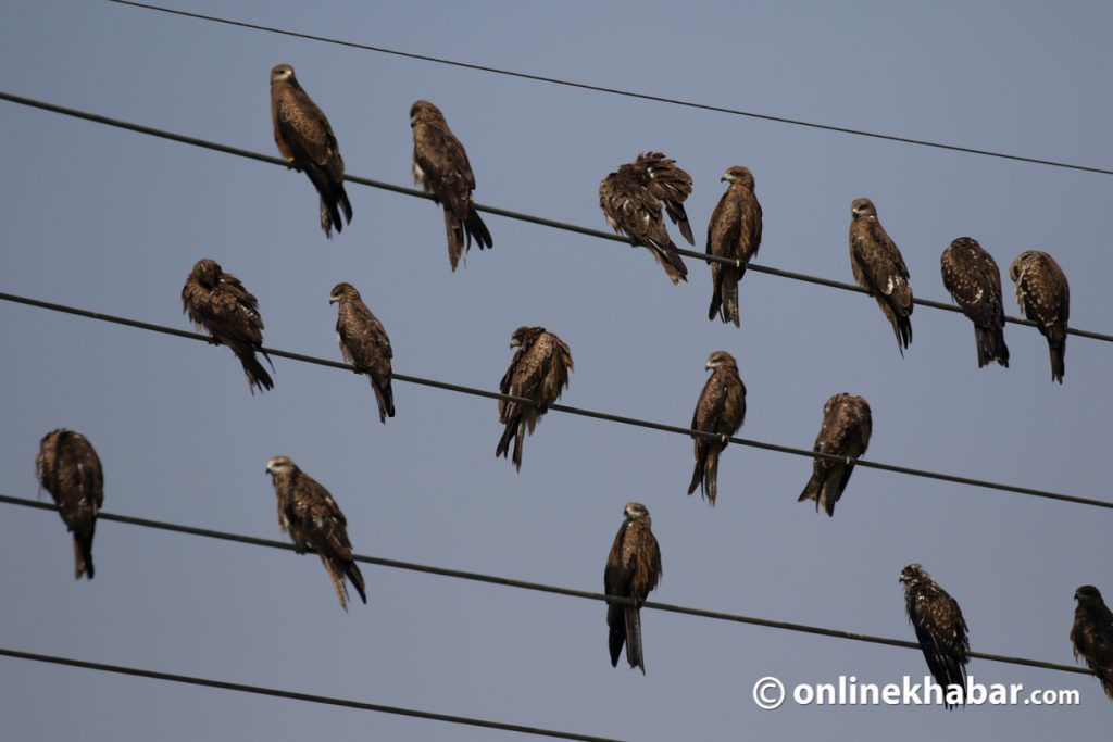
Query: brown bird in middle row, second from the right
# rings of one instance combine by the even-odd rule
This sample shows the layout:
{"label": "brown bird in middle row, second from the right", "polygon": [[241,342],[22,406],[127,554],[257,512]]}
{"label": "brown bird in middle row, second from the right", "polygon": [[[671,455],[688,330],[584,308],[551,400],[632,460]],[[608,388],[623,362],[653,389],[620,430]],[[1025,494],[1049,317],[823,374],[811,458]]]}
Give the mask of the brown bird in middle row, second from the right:
{"label": "brown bird in middle row, second from the right", "polygon": [[718,492],[719,454],[727,447],[727,438],[738,432],[746,418],[746,385],[738,375],[738,363],[726,350],[709,355],[706,368],[711,375],[696,403],[691,427],[719,437],[692,436],[696,442],[696,469],[688,494],[702,486],[700,493],[713,506]]}

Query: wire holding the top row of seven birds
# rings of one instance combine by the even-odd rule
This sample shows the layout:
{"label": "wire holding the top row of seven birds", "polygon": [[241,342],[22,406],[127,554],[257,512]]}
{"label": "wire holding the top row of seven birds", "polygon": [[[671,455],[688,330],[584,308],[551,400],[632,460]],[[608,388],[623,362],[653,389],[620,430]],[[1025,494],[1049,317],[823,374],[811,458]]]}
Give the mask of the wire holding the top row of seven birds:
{"label": "wire holding the top row of seven birds", "polygon": [[[111,2],[120,0],[110,0]],[[198,139],[196,137],[188,137],[181,133],[175,133],[173,131],[166,131],[164,129],[156,129],[154,127],[142,126],[141,123],[132,123],[130,121],[124,121],[120,119],[109,118],[107,116],[100,116],[99,113],[90,113],[88,111],[81,111],[76,108],[67,108],[65,106],[58,106],[55,103],[48,103],[46,101],[36,100],[33,98],[24,98],[23,96],[17,96],[14,93],[0,91],[0,100],[7,100],[12,103],[18,103],[20,106],[28,106],[30,108],[39,108],[41,110],[50,111],[52,113],[60,113],[62,116],[70,116],[78,119],[85,119],[87,121],[93,121],[96,123],[104,123],[105,126],[116,127],[118,129],[126,129],[128,131],[135,131],[136,133],[142,133],[150,137],[158,137],[160,139],[169,139],[171,141],[181,142],[184,145],[190,145],[191,147],[200,147],[203,149],[211,149],[217,152],[224,152],[225,155],[235,155],[236,157],[243,157],[250,160],[256,160],[258,162],[267,162],[268,165],[278,165],[284,168],[289,168],[289,164],[285,160],[278,159],[277,157],[272,157],[269,155],[263,155],[260,152],[253,152],[247,149],[240,149],[239,147],[230,147],[228,145],[221,145],[219,142],[209,141],[206,139]],[[405,186],[396,186],[394,184],[385,182],[382,180],[373,180],[371,178],[363,178],[359,176],[345,175],[344,179],[348,182],[354,182],[359,186],[367,186],[371,188],[378,188],[381,190],[388,190],[395,194],[402,194],[404,196],[414,196],[417,198],[424,198],[426,200],[432,200],[433,197],[424,191],[416,190],[414,188],[406,188]],[[629,237],[623,237],[620,235],[614,235],[611,233],[602,231],[600,229],[591,229],[589,227],[580,227],[578,225],[569,224],[567,221],[558,221],[555,219],[546,219],[544,217],[538,217],[530,214],[523,214],[521,211],[512,211],[510,209],[499,208],[496,206],[484,206],[482,204],[475,204],[475,208],[484,214],[494,214],[495,216],[505,217],[508,219],[515,219],[518,221],[526,221],[529,224],[540,225],[542,227],[550,227],[552,229],[560,229],[562,231],[575,233],[578,235],[585,235],[588,237],[594,237],[597,239],[605,239],[612,243],[622,243],[623,245],[637,245]],[[708,255],[706,253],[697,253],[696,250],[686,250],[678,248],[677,251],[689,258],[695,258],[697,260],[703,260],[705,263],[720,263],[723,265],[736,265],[733,258],[725,258],[717,255]],[[833,280],[830,278],[820,278],[818,276],[809,276],[807,274],[794,273],[791,270],[782,270],[780,268],[771,268],[769,266],[762,266],[755,263],[747,265],[747,270],[752,270],[755,273],[768,274],[770,276],[779,276],[781,278],[789,278],[792,280],[805,281],[808,284],[816,284],[817,286],[827,286],[829,288],[838,288],[844,291],[855,291],[857,294],[868,294],[866,289],[860,286],[855,286],[854,284],[846,284],[838,280]],[[962,314],[962,309],[958,307],[944,304],[943,301],[934,301],[932,299],[913,299],[914,304],[918,304],[924,307],[932,307],[933,309],[943,309],[945,311],[953,311]],[[1037,325],[1030,320],[1023,319],[1021,317],[1006,316],[1005,321],[1012,323],[1014,325],[1025,325],[1027,327],[1036,327]],[[1073,327],[1067,328],[1067,334],[1077,335],[1080,337],[1089,337],[1094,340],[1103,340],[1105,343],[1113,343],[1113,335],[1105,333],[1095,333],[1093,330],[1076,329]]]}

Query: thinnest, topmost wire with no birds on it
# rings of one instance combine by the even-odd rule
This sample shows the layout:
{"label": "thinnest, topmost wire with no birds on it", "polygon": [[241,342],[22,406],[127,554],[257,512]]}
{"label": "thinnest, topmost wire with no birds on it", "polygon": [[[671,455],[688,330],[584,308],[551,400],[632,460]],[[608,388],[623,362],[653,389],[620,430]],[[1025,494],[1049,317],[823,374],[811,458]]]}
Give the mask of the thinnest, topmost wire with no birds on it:
{"label": "thinnest, topmost wire with no birds on it", "polygon": [[338,47],[347,47],[349,49],[361,49],[363,51],[374,51],[383,55],[392,55],[394,57],[404,57],[406,59],[417,59],[426,62],[434,62],[436,65],[449,65],[451,67],[461,67],[470,70],[477,70],[480,72],[491,72],[493,75],[503,75],[506,77],[519,78],[523,80],[533,80],[536,82],[548,82],[551,85],[564,86],[568,88],[579,88],[581,90],[592,90],[594,92],[605,92],[612,96],[622,96],[624,98],[637,98],[640,100],[650,100],[659,103],[669,103],[672,106],[683,106],[684,108],[695,108],[705,111],[715,111],[717,113],[729,113],[731,116],[742,116],[751,119],[759,119],[762,121],[774,121],[776,123],[788,123],[797,127],[805,127],[808,129],[819,129],[823,131],[835,131],[837,133],[853,135],[856,137],[868,137],[870,139],[881,139],[885,141],[896,141],[903,145],[914,145],[916,147],[930,147],[933,149],[945,149],[955,152],[965,152],[967,155],[982,155],[984,157],[995,157],[998,159],[1014,160],[1018,162],[1032,162],[1034,165],[1046,165],[1050,167],[1065,168],[1068,170],[1082,170],[1085,172],[1097,172],[1100,175],[1113,175],[1113,170],[1106,168],[1100,168],[1089,165],[1073,165],[1071,162],[1061,162],[1056,160],[1045,160],[1036,157],[1025,157],[1022,155],[1009,155],[1007,152],[997,152],[988,149],[976,149],[974,147],[962,147],[958,145],[945,145],[937,141],[928,141],[926,139],[913,139],[910,137],[899,137],[896,135],[878,133],[876,131],[866,131],[863,129],[851,129],[848,127],[834,126],[830,123],[816,123],[814,121],[804,121],[800,119],[791,119],[784,116],[772,116],[769,113],[756,113],[754,111],[743,111],[737,108],[727,108],[723,106],[712,106],[709,103],[697,103],[689,100],[681,100],[678,98],[666,98],[663,96],[653,96],[643,92],[633,92],[630,90],[622,90],[619,88],[608,88],[598,85],[590,85],[588,82],[577,82],[574,80],[564,80],[561,78],[545,77],[542,75],[530,75],[528,72],[515,72],[513,70],[501,69],[498,67],[487,67],[485,65],[474,65],[471,62],[461,62],[453,59],[445,59],[443,57],[432,57],[429,55],[417,55],[410,51],[398,51],[396,49],[387,49],[385,47],[373,47],[366,43],[357,43],[355,41],[345,41],[343,39],[334,39],[324,36],[315,36],[313,33],[302,33],[299,31],[290,31],[287,29],[275,28],[273,26],[262,26],[259,23],[248,23],[246,21],[236,21],[227,18],[219,18],[217,16],[206,16],[203,13],[194,13],[186,10],[175,10],[173,8],[162,8],[160,6],[151,6],[145,2],[134,2],[132,0],[108,0],[109,2],[115,2],[120,6],[131,6],[132,8],[142,8],[145,10],[155,10],[160,13],[169,13],[171,16],[181,16],[185,18],[195,18],[197,20],[211,21],[215,23],[224,23],[226,26],[235,26],[237,28],[252,29],[254,31],[265,31],[267,33],[278,33],[282,36],[289,36],[296,39],[306,39],[309,41],[321,41],[324,43],[331,43]]}

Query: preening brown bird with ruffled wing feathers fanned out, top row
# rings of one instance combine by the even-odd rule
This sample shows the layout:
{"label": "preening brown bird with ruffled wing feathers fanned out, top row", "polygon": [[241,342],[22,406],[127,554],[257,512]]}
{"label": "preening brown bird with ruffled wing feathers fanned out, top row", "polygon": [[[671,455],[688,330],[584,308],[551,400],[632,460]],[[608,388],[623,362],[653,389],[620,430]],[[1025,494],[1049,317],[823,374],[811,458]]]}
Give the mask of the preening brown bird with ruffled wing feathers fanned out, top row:
{"label": "preening brown bird with ruffled wing feathers fanned out, top row", "polygon": [[664,228],[661,208],[695,245],[684,199],[692,192],[692,178],[661,152],[638,155],[599,184],[599,208],[607,222],[637,245],[648,247],[673,284],[688,280],[688,268]]}

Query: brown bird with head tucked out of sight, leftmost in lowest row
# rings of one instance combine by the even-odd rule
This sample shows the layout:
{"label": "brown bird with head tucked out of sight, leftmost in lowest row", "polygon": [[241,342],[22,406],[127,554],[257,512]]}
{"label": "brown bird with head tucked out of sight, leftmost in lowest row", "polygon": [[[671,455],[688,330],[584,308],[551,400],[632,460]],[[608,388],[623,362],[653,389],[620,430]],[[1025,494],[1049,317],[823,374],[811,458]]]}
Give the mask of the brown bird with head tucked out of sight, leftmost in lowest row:
{"label": "brown bird with head tucked out of sight, leftmost in lowest row", "polygon": [[92,580],[92,535],[105,503],[105,474],[97,452],[80,433],[58,428],[42,436],[35,466],[39,486],[50,493],[73,534],[73,576]]}

